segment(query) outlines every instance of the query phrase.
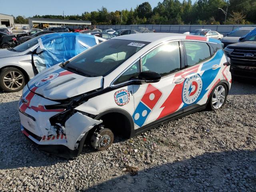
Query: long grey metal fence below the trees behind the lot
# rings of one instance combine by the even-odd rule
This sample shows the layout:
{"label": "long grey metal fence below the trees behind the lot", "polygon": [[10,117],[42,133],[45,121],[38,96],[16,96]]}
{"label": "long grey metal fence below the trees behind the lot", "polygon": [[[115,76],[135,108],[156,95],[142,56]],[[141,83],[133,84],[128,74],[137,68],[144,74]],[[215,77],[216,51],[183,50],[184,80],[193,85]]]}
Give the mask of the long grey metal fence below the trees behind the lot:
{"label": "long grey metal fence below the trees behind the lot", "polygon": [[184,33],[192,32],[195,29],[210,29],[218,31],[221,34],[228,34],[233,30],[240,27],[256,27],[256,25],[97,25],[98,29],[137,29],[139,27],[146,27],[149,30],[156,30],[156,32],[169,32],[169,33]]}

